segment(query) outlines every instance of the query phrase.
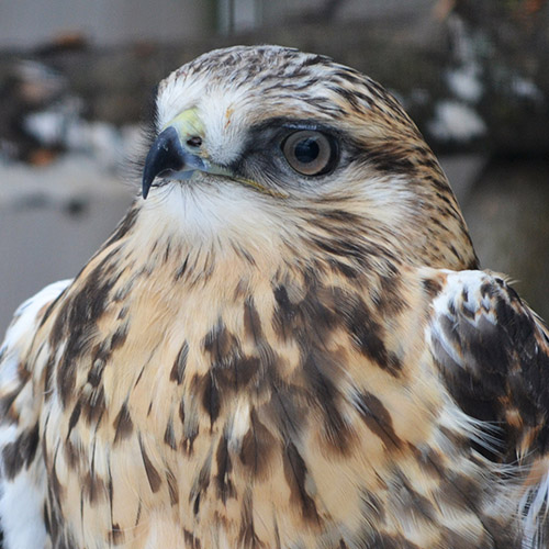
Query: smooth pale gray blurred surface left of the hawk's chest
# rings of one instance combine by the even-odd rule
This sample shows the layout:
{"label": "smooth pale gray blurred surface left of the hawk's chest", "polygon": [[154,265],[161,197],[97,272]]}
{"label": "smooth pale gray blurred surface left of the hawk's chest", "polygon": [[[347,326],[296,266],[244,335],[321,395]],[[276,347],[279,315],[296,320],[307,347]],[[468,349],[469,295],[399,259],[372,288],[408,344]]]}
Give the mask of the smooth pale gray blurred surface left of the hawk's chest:
{"label": "smooth pale gray blurred surface left of the hawk's chest", "polygon": [[42,169],[0,167],[0,340],[21,302],[78,273],[134,191],[75,155]]}

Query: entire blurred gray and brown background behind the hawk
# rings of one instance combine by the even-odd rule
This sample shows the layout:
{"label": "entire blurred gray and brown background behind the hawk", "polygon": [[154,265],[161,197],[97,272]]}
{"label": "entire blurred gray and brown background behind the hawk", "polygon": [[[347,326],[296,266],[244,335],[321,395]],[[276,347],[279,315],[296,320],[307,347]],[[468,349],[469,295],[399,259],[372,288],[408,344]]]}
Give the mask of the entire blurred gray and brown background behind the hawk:
{"label": "entire blurred gray and brown background behind the hawk", "polygon": [[439,156],[483,268],[549,320],[549,1],[0,0],[0,333],[123,215],[156,83],[214,47],[260,43],[391,90]]}

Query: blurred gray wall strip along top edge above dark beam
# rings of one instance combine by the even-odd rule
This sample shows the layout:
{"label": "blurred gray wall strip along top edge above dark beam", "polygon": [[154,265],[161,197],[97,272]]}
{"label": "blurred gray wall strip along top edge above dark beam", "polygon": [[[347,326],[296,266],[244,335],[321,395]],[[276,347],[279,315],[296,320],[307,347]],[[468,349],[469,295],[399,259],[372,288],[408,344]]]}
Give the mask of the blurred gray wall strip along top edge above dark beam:
{"label": "blurred gray wall strip along top edge above dark beam", "polygon": [[[436,0],[340,0],[336,21],[430,10]],[[0,0],[0,47],[33,47],[79,34],[92,44],[183,42],[272,26],[293,18],[311,21],[326,0]],[[340,5],[340,7],[339,7]]]}

